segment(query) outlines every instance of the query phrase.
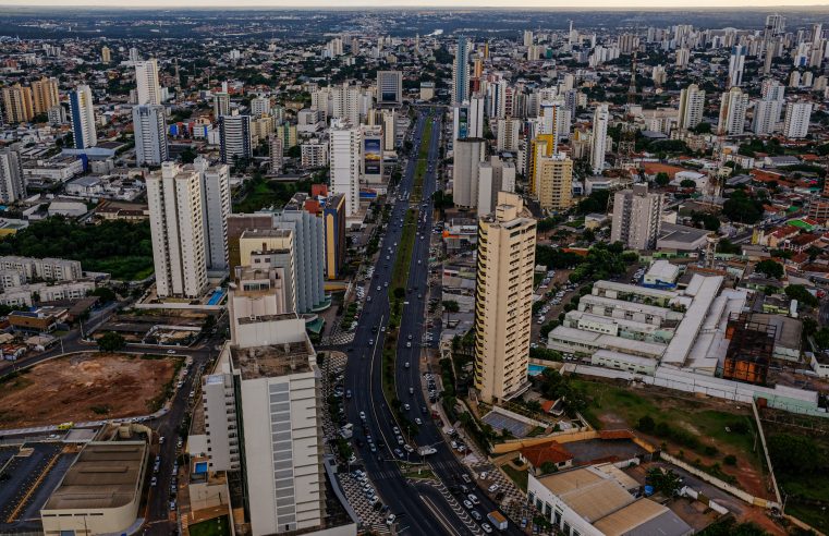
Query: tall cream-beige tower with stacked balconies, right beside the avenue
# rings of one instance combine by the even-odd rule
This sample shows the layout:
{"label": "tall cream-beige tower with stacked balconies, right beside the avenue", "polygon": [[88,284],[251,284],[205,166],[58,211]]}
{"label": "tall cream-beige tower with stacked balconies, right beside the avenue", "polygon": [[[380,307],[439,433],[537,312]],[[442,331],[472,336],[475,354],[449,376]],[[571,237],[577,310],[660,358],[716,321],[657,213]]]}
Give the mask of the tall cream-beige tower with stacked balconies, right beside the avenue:
{"label": "tall cream-beige tower with stacked balconies, right beside the avenue", "polygon": [[475,288],[475,388],[485,402],[528,387],[536,221],[521,196],[501,192],[495,212],[478,219]]}

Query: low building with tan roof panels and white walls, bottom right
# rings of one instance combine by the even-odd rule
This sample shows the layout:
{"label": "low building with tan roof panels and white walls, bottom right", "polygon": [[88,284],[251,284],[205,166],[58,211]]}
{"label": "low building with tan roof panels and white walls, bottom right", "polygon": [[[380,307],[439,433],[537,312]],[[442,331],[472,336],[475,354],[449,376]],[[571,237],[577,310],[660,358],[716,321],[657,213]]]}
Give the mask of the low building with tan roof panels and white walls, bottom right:
{"label": "low building with tan roof panels and white walls, bottom right", "polygon": [[541,477],[531,473],[527,500],[568,536],[694,534],[694,529],[667,507],[631,495],[627,483],[617,480],[614,473],[595,465]]}

